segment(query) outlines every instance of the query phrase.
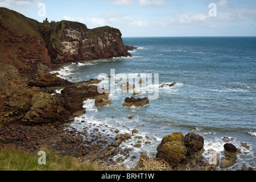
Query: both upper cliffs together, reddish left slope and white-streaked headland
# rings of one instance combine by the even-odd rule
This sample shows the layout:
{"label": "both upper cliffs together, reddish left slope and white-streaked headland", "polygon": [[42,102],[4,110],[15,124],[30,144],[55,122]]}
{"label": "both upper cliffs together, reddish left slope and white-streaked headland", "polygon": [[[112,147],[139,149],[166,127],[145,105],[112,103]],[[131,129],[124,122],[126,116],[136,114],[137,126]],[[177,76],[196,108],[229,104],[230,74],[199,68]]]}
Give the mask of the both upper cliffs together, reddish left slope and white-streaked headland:
{"label": "both upper cliffs together, reddish left slope and white-streaked headland", "polygon": [[39,23],[0,7],[0,63],[14,65],[33,78],[39,63],[47,67],[69,61],[131,56],[117,28],[89,29],[85,24],[63,20]]}

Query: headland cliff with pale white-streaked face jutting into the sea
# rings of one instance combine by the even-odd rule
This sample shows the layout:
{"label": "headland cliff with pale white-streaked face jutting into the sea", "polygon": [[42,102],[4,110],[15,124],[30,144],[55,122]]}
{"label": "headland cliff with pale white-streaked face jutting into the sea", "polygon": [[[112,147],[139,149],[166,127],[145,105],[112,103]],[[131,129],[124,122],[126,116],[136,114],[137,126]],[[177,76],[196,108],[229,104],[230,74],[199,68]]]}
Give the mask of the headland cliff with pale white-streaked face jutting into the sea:
{"label": "headland cliff with pale white-streaked face jutting into the sea", "polygon": [[131,56],[117,28],[105,26],[91,30],[79,22],[46,20],[39,30],[53,63]]}

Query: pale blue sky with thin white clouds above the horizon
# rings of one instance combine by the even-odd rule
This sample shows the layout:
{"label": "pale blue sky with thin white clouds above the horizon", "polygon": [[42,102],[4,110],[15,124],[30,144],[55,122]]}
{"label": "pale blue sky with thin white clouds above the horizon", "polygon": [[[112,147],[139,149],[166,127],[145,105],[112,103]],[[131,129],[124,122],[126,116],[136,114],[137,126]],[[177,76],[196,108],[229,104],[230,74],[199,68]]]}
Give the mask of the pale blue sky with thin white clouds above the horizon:
{"label": "pale blue sky with thin white clouds above the horizon", "polygon": [[256,36],[256,0],[0,0],[43,22],[118,28],[123,37]]}

